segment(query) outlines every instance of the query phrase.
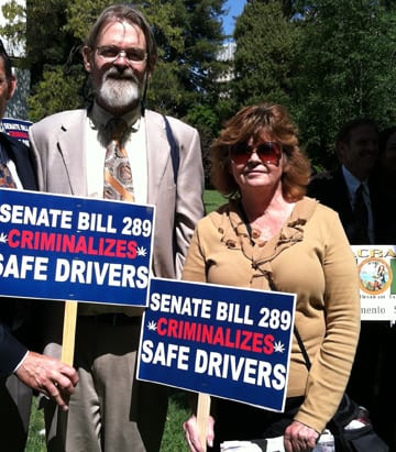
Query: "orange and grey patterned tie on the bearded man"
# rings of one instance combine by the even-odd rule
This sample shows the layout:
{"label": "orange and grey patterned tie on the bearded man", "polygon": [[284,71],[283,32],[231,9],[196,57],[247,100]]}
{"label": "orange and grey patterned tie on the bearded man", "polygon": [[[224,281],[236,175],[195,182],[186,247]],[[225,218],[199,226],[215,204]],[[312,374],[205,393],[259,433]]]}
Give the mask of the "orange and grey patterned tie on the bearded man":
{"label": "orange and grey patterned tie on the bearded man", "polygon": [[127,150],[121,144],[128,124],[120,118],[113,118],[106,128],[111,141],[106,150],[103,198],[133,202],[132,169]]}

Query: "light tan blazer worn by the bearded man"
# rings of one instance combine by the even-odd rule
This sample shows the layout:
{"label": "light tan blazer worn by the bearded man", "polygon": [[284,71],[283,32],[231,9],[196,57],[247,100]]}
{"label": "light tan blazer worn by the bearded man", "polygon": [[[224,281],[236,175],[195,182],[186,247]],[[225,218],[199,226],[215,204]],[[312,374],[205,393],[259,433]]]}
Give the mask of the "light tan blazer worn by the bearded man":
{"label": "light tan blazer worn by the bearded man", "polygon": [[[87,196],[85,150],[81,148],[87,110],[53,114],[30,128],[41,191]],[[204,169],[199,134],[169,118],[179,145],[177,184],[170,147],[161,114],[146,110],[147,203],[155,205],[154,276],[179,278],[197,221],[204,214]]]}

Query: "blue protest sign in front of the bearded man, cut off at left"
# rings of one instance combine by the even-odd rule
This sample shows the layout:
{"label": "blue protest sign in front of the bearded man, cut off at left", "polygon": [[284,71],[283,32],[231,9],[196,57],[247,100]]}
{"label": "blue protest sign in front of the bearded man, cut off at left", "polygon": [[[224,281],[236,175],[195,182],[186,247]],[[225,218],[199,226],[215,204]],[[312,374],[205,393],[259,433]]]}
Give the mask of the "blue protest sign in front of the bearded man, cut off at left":
{"label": "blue protest sign in front of the bearded man, cut off at left", "polygon": [[146,306],[154,207],[0,189],[0,295]]}

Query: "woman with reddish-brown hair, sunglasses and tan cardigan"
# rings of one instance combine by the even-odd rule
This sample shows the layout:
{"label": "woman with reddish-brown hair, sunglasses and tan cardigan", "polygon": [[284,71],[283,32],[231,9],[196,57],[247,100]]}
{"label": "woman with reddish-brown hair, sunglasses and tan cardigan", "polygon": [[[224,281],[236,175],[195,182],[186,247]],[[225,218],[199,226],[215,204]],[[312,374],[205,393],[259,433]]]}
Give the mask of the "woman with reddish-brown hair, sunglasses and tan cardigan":
{"label": "woman with reddish-brown hair, sunglasses and tan cardigan", "polygon": [[[340,405],[360,331],[358,269],[338,214],[305,196],[310,165],[284,107],[243,108],[211,146],[213,186],[229,201],[197,225],[183,278],[297,294],[284,412],[212,398],[207,443],[284,436],[311,451]],[[364,376],[362,376],[364,377]],[[195,415],[184,423],[201,452]],[[253,449],[249,449],[253,450]],[[260,450],[260,449],[257,449]]]}

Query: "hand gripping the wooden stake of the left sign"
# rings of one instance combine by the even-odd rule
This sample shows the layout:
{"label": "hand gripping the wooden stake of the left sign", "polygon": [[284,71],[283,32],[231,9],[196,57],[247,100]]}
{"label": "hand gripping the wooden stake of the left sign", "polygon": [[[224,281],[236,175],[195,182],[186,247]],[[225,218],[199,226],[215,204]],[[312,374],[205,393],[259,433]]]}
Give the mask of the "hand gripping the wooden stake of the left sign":
{"label": "hand gripping the wooden stake of the left sign", "polygon": [[15,375],[32,389],[56,401],[62,410],[68,410],[69,396],[78,383],[74,367],[54,357],[29,352]]}

